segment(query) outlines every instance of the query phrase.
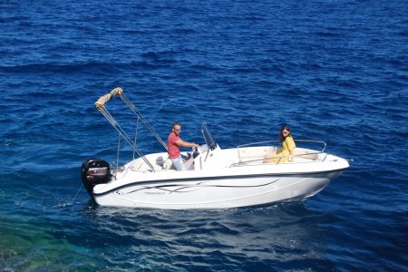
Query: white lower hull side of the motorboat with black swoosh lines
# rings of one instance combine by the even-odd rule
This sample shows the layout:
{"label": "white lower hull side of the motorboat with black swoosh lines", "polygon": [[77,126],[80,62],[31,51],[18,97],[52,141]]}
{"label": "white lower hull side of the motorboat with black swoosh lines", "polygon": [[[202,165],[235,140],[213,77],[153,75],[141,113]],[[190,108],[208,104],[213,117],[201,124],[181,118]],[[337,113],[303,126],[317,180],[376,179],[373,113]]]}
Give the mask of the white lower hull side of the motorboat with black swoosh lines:
{"label": "white lower hull side of the motorboat with black swoosh lines", "polygon": [[324,189],[341,173],[342,170],[335,170],[309,174],[135,181],[104,193],[94,191],[93,196],[102,206],[226,209],[306,199]]}

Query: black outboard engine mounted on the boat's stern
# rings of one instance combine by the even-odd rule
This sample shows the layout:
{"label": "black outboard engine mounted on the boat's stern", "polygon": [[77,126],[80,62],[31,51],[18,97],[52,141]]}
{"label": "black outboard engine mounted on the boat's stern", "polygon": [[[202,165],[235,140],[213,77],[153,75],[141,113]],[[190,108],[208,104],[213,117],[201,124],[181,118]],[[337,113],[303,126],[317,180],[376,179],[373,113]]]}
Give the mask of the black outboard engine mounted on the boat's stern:
{"label": "black outboard engine mounted on the boat's stern", "polygon": [[109,163],[100,159],[83,161],[82,180],[83,186],[92,197],[92,190],[96,184],[108,183],[111,180]]}

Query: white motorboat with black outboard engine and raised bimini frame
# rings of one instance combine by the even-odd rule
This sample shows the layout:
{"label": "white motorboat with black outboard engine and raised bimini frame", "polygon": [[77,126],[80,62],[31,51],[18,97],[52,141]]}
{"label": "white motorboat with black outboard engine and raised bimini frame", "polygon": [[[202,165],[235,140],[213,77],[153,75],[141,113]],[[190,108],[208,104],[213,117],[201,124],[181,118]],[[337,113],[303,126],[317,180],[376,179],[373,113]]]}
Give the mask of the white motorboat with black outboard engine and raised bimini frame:
{"label": "white motorboat with black outboard engine and raised bimini frame", "polygon": [[[162,152],[141,152],[136,140],[131,139],[107,110],[106,103],[114,96],[119,96],[156,137]],[[266,160],[280,151],[279,141],[221,149],[209,125],[203,123],[205,144],[194,151],[181,152],[185,170],[178,171],[168,159],[166,143],[121,88],[103,95],[95,105],[137,155],[122,166],[101,159],[83,161],[83,185],[102,206],[228,209],[302,201],[316,195],[350,166],[349,160],[325,152],[323,141],[296,140],[295,155],[290,162]],[[310,145],[319,148],[308,148]]]}

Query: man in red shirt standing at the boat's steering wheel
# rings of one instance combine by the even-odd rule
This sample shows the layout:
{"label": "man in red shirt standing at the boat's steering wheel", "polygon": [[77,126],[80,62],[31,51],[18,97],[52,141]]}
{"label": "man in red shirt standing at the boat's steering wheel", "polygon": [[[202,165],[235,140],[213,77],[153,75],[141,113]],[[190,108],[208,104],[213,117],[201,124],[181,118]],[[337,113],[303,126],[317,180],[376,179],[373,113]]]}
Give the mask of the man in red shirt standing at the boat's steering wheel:
{"label": "man in red shirt standing at the boat's steering wheel", "polygon": [[167,152],[169,153],[169,159],[173,163],[176,170],[184,170],[183,160],[180,155],[180,146],[199,148],[199,145],[195,142],[182,141],[180,138],[181,124],[175,122],[171,126],[171,132],[167,140]]}

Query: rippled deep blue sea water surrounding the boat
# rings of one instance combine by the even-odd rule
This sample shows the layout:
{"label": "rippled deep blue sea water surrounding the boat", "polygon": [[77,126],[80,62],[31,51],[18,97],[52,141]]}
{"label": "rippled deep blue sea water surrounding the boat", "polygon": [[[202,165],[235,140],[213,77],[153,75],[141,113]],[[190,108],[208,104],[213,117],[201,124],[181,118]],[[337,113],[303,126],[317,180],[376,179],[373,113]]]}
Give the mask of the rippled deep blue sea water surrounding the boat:
{"label": "rippled deep blue sea water surrounding the boat", "polygon": [[[406,1],[125,2],[0,1],[0,270],[408,270]],[[115,159],[117,86],[162,138],[288,123],[355,161],[303,203],[98,207],[81,163]]]}

